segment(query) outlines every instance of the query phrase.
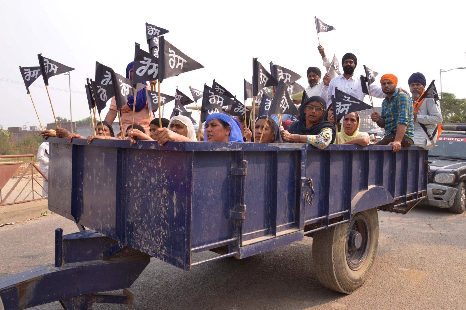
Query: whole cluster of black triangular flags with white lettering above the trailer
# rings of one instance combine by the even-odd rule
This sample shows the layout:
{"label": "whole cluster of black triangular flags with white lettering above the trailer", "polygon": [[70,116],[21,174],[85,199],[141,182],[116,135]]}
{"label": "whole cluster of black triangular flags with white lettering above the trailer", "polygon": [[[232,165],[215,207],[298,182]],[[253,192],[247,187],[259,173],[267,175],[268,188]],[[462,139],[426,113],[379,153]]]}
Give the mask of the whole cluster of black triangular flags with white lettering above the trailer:
{"label": "whole cluster of black triangular flags with white lettering above the trailer", "polygon": [[[315,26],[317,34],[335,29],[333,26],[323,23],[316,17]],[[268,72],[257,58],[253,59],[252,83],[249,83],[244,79],[244,102],[238,100],[236,96],[229,92],[225,87],[221,86],[217,81],[215,81],[215,79],[212,81],[212,86],[204,84],[202,91],[189,86],[194,100],[179,91],[178,87],[174,96],[161,93],[160,83],[164,79],[203,68],[204,66],[165,40],[164,34],[169,33],[168,30],[148,23],[145,24],[145,30],[149,53],[144,51],[138,43],[135,43],[132,80],[116,73],[109,66],[105,66],[96,61],[95,79],[92,80],[88,78],[87,83],[85,84],[91,119],[92,111],[94,111],[95,120],[96,110],[100,116],[100,113],[112,97],[115,97],[117,108],[120,110],[128,103],[128,99],[131,96],[134,96],[135,93],[144,88],[149,113],[159,110],[161,106],[164,106],[174,100],[175,104],[171,116],[185,115],[189,117],[193,123],[195,123],[195,120],[192,118],[192,112],[188,112],[185,109],[185,106],[191,103],[196,103],[197,106],[198,100],[202,99],[200,109],[199,106],[197,107],[200,115],[199,127],[203,122],[205,122],[207,116],[214,112],[226,113],[230,116],[244,116],[245,120],[250,119],[250,121],[253,121],[255,119],[255,107],[259,107],[259,113],[257,116],[270,117],[272,115],[278,115],[281,122],[280,114],[298,114],[298,111],[290,98],[291,95],[303,92],[302,102],[307,99],[304,87],[296,83],[296,81],[301,78],[301,75],[283,66],[275,65],[272,62],[270,62],[270,72]],[[75,70],[72,67],[62,65],[55,60],[46,58],[41,54],[38,55],[38,59],[39,66],[20,66],[21,76],[29,95],[29,86],[31,86],[31,84],[40,76],[42,76],[47,88],[49,78]],[[338,74],[341,74],[339,73],[338,59],[335,55],[331,61],[331,67],[333,67]],[[361,85],[363,87],[363,92],[370,95],[370,85],[375,81],[375,77],[378,73],[366,66],[364,66],[364,71],[365,76],[361,75],[360,77]],[[148,89],[144,83],[146,81],[153,80],[158,80],[158,91],[153,88]],[[366,82],[369,87],[366,86]],[[265,91],[267,87],[273,88],[273,96],[269,96],[267,94]],[[431,88],[432,90],[429,92]],[[432,93],[438,98],[433,81],[425,92],[425,96],[429,96],[429,94]],[[253,99],[252,109],[249,109],[246,106],[246,100],[249,98]],[[136,96],[134,96],[134,100],[136,101]],[[341,116],[350,112],[361,111],[371,107],[363,101],[358,100],[338,89],[336,89],[335,95],[332,96],[331,101],[335,119],[339,119]],[[51,99],[50,104],[52,106]],[[159,117],[161,117],[160,112]],[[121,129],[123,132],[123,128]]]}

